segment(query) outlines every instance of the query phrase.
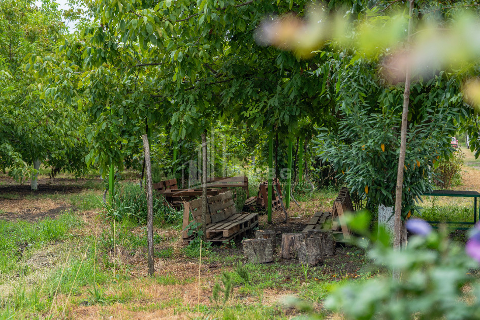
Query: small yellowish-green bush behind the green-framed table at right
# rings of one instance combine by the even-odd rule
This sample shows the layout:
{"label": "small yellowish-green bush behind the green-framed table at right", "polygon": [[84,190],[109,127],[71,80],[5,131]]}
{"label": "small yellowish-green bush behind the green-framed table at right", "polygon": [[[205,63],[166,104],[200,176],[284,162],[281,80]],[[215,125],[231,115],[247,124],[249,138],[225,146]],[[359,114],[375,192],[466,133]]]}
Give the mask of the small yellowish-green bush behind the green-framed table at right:
{"label": "small yellowish-green bush behind the green-framed table at right", "polygon": [[449,158],[443,158],[433,164],[433,182],[441,189],[449,189],[462,182],[462,165],[465,154],[459,149]]}

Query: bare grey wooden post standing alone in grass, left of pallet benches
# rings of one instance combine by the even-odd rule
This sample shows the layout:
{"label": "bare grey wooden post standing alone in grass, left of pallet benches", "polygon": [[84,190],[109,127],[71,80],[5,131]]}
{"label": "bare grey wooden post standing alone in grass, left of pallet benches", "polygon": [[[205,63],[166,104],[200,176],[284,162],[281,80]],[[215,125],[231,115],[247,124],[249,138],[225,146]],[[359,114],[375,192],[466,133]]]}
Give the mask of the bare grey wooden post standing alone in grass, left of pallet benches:
{"label": "bare grey wooden post standing alone in grass, left of pallet benches", "polygon": [[147,170],[147,252],[148,252],[148,275],[153,275],[153,193],[152,193],[152,167],[150,163],[150,145],[148,136],[143,135],[143,149],[145,151],[145,169]]}

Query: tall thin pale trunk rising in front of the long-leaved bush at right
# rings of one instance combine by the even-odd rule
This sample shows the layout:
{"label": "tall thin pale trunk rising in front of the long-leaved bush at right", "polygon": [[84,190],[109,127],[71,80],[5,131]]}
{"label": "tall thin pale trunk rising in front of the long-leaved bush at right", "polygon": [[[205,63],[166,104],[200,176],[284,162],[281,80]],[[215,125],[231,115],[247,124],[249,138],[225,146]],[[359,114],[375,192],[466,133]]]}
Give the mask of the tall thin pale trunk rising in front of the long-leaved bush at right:
{"label": "tall thin pale trunk rising in front of the long-leaved bush at right", "polygon": [[[413,14],[413,0],[410,1],[410,20],[408,22],[408,38],[410,42],[412,31],[412,14]],[[400,250],[402,242],[402,191],[403,191],[403,167],[405,166],[405,150],[407,144],[407,122],[408,122],[408,105],[410,102],[410,75],[411,68],[407,66],[405,72],[405,90],[403,92],[403,111],[402,111],[402,127],[400,138],[400,155],[398,157],[398,170],[397,170],[397,188],[395,192],[395,238],[393,247],[395,250]],[[399,275],[394,273],[394,277]]]}

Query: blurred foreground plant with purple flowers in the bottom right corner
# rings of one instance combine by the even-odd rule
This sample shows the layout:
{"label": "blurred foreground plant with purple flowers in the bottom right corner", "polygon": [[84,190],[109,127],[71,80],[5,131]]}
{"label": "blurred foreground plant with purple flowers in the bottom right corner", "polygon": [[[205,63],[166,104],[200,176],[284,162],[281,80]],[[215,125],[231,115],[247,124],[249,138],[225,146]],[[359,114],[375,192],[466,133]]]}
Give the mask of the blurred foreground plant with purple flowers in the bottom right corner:
{"label": "blurred foreground plant with purple flowers in the bottom right corner", "polygon": [[[354,243],[368,248],[368,257],[375,265],[396,270],[400,277],[385,274],[341,284],[326,299],[328,309],[343,313],[347,319],[480,318],[480,285],[472,275],[478,262],[468,257],[463,245],[449,240],[445,228],[437,233],[425,221],[411,221],[416,226],[410,231],[419,235],[410,237],[402,251],[391,248],[385,230],[368,232],[370,218],[366,213],[351,221],[350,227],[364,235]],[[480,262],[478,253],[475,255],[480,230],[475,228],[471,233],[467,251]]]}

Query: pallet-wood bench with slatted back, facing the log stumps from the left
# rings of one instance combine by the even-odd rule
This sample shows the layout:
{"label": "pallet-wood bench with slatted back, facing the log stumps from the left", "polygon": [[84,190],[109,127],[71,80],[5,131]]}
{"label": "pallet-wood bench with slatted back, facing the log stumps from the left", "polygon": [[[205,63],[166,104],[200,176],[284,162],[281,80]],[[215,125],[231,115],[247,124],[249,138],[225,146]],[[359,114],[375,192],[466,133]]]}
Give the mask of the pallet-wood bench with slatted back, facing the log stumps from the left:
{"label": "pallet-wood bench with slatted back, facing the log stumps from the left", "polygon": [[[207,241],[228,241],[236,236],[241,237],[258,226],[258,213],[237,213],[232,191],[207,197],[207,204]],[[190,212],[195,222],[202,223],[202,199],[190,201],[183,206],[182,238],[187,242],[195,236],[188,236]]]}

